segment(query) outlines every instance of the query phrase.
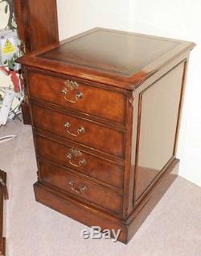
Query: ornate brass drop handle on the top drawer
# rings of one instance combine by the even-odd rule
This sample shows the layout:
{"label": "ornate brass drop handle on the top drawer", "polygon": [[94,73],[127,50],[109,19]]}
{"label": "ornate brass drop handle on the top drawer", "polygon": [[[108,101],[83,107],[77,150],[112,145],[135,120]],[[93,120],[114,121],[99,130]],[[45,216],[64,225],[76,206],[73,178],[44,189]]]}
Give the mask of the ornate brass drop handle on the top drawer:
{"label": "ornate brass drop handle on the top drawer", "polygon": [[61,90],[61,93],[64,94],[64,99],[66,101],[68,101],[68,103],[77,103],[79,99],[83,99],[84,94],[81,91],[78,91],[75,95],[75,99],[68,99],[68,92],[70,90],[78,90],[79,85],[77,82],[73,82],[73,81],[65,81],[64,82],[65,86],[64,88]]}

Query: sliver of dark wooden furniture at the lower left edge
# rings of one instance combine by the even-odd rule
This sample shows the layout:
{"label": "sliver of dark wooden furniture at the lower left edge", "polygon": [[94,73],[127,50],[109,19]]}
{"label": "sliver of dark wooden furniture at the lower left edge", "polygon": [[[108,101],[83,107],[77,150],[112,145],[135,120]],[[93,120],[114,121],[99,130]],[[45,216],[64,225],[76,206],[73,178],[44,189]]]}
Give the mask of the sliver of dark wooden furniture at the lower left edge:
{"label": "sliver of dark wooden furniture at the lower left edge", "polygon": [[4,200],[8,199],[8,191],[6,187],[6,172],[0,170],[0,255],[6,255],[6,237],[4,237],[5,231],[3,228],[4,212],[3,204]]}

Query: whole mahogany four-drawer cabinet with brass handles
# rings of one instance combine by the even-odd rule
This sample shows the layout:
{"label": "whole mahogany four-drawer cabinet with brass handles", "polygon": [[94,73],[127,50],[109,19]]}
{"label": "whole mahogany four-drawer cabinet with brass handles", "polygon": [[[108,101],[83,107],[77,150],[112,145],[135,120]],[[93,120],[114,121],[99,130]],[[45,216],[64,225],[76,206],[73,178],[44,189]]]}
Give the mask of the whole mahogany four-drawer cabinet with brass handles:
{"label": "whole mahogany four-drawer cabinet with brass handles", "polygon": [[35,199],[85,225],[121,229],[127,243],[177,177],[194,46],[94,28],[18,59],[31,104]]}

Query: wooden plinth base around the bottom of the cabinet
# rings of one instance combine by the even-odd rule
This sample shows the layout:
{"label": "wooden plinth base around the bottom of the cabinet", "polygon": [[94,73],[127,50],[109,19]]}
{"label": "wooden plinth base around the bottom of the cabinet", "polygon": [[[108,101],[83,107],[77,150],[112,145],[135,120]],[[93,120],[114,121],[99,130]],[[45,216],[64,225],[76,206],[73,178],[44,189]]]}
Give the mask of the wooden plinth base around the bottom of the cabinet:
{"label": "wooden plinth base around the bottom of the cabinet", "polygon": [[39,182],[34,184],[35,199],[39,203],[89,227],[100,226],[101,229],[115,229],[116,231],[117,229],[121,229],[118,240],[127,244],[137,229],[140,228],[143,221],[146,220],[146,217],[149,216],[154,206],[162,198],[168,187],[174,182],[174,179],[178,175],[178,165],[179,161],[175,158],[158,179],[158,182],[150,193],[146,195],[142,203],[129,216],[128,220],[119,220],[114,216],[100,212],[100,210],[82,204],[80,201],[76,201],[70,197],[66,199],[66,195],[64,196],[60,192],[55,193],[50,187],[44,186]]}

